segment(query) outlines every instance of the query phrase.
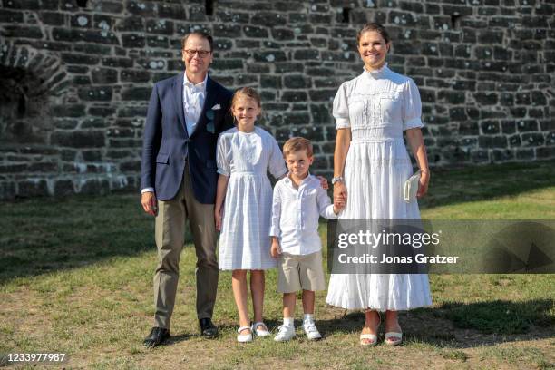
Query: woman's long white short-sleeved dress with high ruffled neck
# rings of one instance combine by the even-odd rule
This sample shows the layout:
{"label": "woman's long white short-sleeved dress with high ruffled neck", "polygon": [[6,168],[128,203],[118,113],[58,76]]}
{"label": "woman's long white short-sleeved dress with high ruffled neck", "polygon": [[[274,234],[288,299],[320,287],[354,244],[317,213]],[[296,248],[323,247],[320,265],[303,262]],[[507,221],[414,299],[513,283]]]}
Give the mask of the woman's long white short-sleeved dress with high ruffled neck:
{"label": "woman's long white short-sleeved dress with high ruffled neck", "polygon": [[[336,129],[350,128],[344,171],[346,209],[339,219],[420,219],[403,199],[413,174],[403,131],[422,127],[414,81],[387,65],[341,84],[333,105]],[[425,274],[332,274],[326,303],[348,309],[407,310],[432,305]]]}

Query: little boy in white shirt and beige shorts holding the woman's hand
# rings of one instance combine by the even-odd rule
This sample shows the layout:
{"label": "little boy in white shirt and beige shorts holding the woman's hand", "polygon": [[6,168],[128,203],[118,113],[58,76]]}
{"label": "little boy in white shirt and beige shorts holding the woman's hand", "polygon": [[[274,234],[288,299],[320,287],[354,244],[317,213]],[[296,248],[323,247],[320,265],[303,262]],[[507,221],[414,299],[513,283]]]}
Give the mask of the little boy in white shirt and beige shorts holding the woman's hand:
{"label": "little boy in white shirt and beige shorts holding the woman's hand", "polygon": [[344,202],[331,204],[320,180],[308,173],[314,161],[312,144],[291,138],[283,146],[289,173],[277,181],[272,204],[270,253],[277,262],[277,290],[283,293],[283,325],[274,338],[285,342],[295,336],[293,325],[297,291],[303,290],[303,327],[308,339],[322,336],[314,323],[315,291],[326,289],[318,218],[336,219]]}

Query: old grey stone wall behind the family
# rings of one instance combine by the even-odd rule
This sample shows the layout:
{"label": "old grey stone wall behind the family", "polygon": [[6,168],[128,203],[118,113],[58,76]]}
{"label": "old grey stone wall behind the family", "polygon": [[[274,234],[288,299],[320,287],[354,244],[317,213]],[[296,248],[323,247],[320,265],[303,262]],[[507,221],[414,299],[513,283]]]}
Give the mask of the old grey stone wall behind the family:
{"label": "old grey stone wall behind the family", "polygon": [[303,135],[330,174],[331,100],[362,71],[357,29],[387,26],[424,102],[433,166],[555,157],[555,2],[2,0],[0,198],[139,187],[154,82],[180,38],[215,37],[211,73],[262,94],[262,124]]}

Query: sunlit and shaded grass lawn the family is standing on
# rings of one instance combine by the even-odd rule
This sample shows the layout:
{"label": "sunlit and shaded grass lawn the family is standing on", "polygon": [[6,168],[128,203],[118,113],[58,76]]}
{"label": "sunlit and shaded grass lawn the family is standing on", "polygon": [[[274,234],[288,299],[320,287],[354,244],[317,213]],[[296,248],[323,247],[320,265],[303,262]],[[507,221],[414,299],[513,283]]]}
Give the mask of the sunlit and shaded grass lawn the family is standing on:
{"label": "sunlit and shaded grass lawn the family is standing on", "polygon": [[[423,219],[555,219],[554,180],[555,161],[436,171],[421,202]],[[326,306],[325,292],[316,296],[322,341],[308,342],[297,330],[286,344],[255,339],[241,346],[229,273],[220,274],[214,315],[221,335],[198,336],[190,245],[181,255],[170,345],[147,350],[141,341],[152,324],[156,250],[138,195],[17,200],[0,208],[0,355],[61,352],[66,368],[93,369],[555,368],[555,275],[431,275],[433,307],[400,315],[399,347],[383,338],[358,346],[363,314]],[[281,319],[276,280],[270,271],[270,329]]]}

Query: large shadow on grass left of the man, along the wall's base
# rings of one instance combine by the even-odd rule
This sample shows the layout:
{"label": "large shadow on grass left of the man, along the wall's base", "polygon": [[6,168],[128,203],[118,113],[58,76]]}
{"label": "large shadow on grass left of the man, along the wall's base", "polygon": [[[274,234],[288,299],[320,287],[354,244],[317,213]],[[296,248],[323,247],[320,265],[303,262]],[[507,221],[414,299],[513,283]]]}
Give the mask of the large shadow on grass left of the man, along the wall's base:
{"label": "large shadow on grass left of the man, along the wall's base", "polygon": [[154,219],[136,194],[4,202],[0,229],[0,285],[114,257],[156,254]]}

